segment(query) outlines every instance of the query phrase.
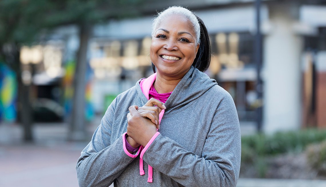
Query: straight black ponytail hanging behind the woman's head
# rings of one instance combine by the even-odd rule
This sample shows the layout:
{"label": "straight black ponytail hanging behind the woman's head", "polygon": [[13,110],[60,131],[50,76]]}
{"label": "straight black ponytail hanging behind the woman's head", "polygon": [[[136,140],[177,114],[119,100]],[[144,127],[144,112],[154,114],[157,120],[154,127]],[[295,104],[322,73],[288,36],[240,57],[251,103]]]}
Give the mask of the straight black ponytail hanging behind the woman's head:
{"label": "straight black ponytail hanging behind the woman's head", "polygon": [[196,16],[200,26],[200,45],[192,65],[199,71],[204,72],[208,69],[209,64],[211,63],[211,45],[203,20],[201,20],[196,14],[194,15]]}

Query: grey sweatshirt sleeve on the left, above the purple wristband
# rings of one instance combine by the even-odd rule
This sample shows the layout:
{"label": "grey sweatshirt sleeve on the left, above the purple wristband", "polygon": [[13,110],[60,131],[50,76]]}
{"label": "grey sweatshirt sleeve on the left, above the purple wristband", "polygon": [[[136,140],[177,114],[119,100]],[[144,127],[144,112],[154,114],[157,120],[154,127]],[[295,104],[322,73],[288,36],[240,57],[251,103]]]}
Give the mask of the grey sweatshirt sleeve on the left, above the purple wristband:
{"label": "grey sweatshirt sleeve on the left, above the purple wristband", "polygon": [[92,140],[84,148],[77,161],[77,178],[79,186],[110,186],[138,155],[131,157],[123,149],[121,135],[111,142],[112,118],[116,99],[108,107],[97,127]]}

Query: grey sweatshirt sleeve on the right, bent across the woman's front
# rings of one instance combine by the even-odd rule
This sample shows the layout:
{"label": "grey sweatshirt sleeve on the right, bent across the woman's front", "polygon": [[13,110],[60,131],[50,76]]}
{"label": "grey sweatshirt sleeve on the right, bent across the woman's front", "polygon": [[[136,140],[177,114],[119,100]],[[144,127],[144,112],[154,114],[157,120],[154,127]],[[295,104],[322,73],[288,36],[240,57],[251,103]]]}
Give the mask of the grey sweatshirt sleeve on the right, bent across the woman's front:
{"label": "grey sweatshirt sleeve on the right, bent across the woman's front", "polygon": [[241,134],[233,99],[227,94],[219,103],[201,156],[162,134],[158,134],[141,156],[146,163],[183,186],[236,186]]}

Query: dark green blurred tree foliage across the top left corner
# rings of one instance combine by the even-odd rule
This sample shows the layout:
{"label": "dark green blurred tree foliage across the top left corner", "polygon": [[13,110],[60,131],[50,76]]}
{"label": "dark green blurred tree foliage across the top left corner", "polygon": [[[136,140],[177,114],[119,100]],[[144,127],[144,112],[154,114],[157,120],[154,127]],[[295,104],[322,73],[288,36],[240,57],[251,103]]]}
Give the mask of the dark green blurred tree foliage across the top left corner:
{"label": "dark green blurred tree foliage across the top left corner", "polygon": [[1,0],[0,46],[29,43],[42,29],[139,15],[144,0]]}

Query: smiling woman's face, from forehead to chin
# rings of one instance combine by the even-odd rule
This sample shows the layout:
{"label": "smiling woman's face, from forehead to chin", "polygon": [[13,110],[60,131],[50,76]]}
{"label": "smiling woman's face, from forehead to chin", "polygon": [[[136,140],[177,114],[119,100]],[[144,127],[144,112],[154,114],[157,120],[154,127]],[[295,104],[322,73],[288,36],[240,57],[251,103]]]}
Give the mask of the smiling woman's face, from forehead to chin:
{"label": "smiling woman's face, from forehead to chin", "polygon": [[190,21],[182,15],[170,15],[154,31],[151,60],[161,76],[182,78],[194,62],[198,48]]}

